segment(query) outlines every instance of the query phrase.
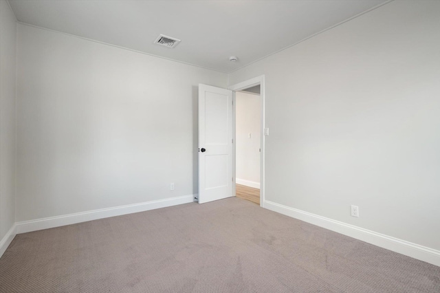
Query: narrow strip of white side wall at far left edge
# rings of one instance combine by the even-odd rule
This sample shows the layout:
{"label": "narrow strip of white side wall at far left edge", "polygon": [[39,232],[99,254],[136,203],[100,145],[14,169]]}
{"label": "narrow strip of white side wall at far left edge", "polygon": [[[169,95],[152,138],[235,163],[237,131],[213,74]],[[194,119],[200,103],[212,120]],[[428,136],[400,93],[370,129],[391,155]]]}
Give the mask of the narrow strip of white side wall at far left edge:
{"label": "narrow strip of white side wall at far left edge", "polygon": [[[15,221],[15,54],[16,19],[0,1],[0,256]],[[13,237],[13,235],[12,235]]]}

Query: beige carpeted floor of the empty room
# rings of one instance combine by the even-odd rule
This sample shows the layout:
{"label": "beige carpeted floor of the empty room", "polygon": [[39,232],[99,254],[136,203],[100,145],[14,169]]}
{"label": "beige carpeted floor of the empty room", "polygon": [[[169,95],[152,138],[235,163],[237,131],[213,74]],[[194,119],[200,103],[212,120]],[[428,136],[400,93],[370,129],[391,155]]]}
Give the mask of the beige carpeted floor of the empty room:
{"label": "beige carpeted floor of the empty room", "polygon": [[232,197],[17,235],[0,292],[440,292],[440,268]]}

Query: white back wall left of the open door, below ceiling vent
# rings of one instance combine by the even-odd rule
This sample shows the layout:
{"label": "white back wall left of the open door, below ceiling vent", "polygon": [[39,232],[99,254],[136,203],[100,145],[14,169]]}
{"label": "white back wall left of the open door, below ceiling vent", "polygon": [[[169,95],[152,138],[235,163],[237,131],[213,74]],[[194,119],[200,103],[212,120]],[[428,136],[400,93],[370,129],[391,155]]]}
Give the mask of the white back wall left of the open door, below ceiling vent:
{"label": "white back wall left of the open door, below ceiling vent", "polygon": [[197,193],[197,88],[226,74],[21,24],[17,54],[17,221]]}

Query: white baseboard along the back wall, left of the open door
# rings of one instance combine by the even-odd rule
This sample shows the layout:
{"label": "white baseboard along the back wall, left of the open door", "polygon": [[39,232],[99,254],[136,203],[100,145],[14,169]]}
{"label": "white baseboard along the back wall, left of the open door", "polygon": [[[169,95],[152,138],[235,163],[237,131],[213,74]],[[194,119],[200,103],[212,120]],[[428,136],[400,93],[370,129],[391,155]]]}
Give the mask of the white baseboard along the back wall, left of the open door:
{"label": "white baseboard along the back wall, left of the open door", "polygon": [[156,208],[165,208],[167,206],[177,206],[178,204],[188,204],[190,202],[193,202],[194,197],[195,195],[183,195],[179,197],[153,200],[151,202],[141,202],[139,204],[128,204],[126,206],[115,206],[113,208],[89,210],[82,213],[47,217],[30,221],[19,221],[16,223],[17,234],[65,225],[72,225],[81,223],[83,221],[92,221],[95,219],[104,219],[108,217],[115,217],[131,213],[139,213],[144,212],[145,210],[154,210]]}

